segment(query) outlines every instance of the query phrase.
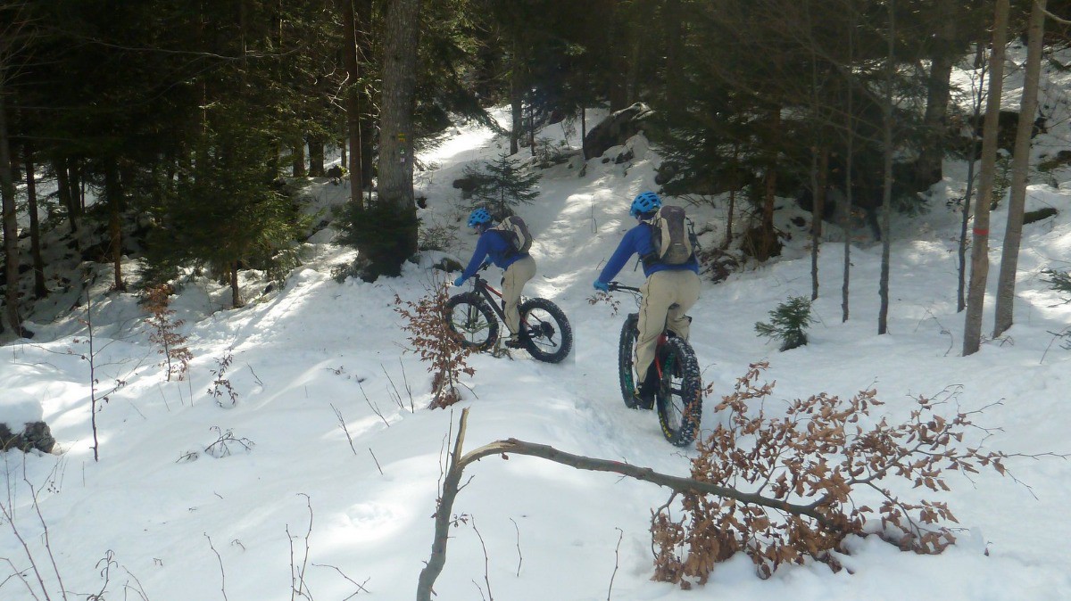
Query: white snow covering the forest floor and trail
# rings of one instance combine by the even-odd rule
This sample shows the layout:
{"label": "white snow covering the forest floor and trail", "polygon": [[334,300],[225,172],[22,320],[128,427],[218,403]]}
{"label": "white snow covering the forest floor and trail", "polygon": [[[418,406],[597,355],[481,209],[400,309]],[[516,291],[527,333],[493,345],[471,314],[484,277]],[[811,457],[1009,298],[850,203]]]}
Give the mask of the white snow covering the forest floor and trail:
{"label": "white snow covering the forest floor and trail", "polygon": [[[1045,138],[1050,148],[1067,132],[1065,118]],[[542,135],[564,134],[552,126]],[[567,139],[578,145],[575,133]],[[395,294],[416,300],[443,276],[408,265],[401,278],[337,283],[331,267],[352,253],[331,245],[329,233],[307,246],[305,264],[282,290],[244,309],[226,309],[227,291],[200,280],[175,297],[194,355],[182,382],[164,380],[136,299],[105,296],[108,278],[101,277],[91,315],[96,388],[123,385],[96,414],[99,462],[84,358],[87,308],[56,323],[31,323],[32,341],[0,346],[0,411],[28,415],[34,412],[27,403],[40,403],[61,450],[2,456],[0,505],[14,523],[0,523],[0,558],[6,558],[0,559],[0,598],[46,598],[32,596],[13,575],[33,566],[54,600],[84,599],[104,587],[108,599],[284,600],[299,598],[291,588],[297,581],[320,601],[355,594],[411,599],[431,552],[432,514],[463,407],[470,410],[466,448],[516,437],[687,475],[695,451],[670,446],[652,413],[620,400],[617,333],[632,300],[622,297],[617,314],[588,302],[601,264],[632,225],[629,201],[657,189],[658,156],[642,137],[632,143],[636,158],[629,164],[591,159],[584,178],[576,164],[546,170],[539,199],[519,210],[536,235],[539,265],[526,292],[567,312],[575,330],[572,356],[561,365],[524,353],[512,360],[474,356],[469,364],[477,373],[465,380],[470,391],[455,411],[427,409],[429,375],[404,353],[406,335],[394,311]],[[428,202],[420,216],[425,225],[459,227],[452,249],[459,259],[468,259],[474,236],[461,227],[467,210],[451,183],[466,165],[502,147],[488,130],[459,125],[456,136],[421,157],[435,168],[418,176]],[[1071,351],[1054,344],[1052,334],[1071,323],[1071,305],[1041,276],[1045,267],[1067,268],[1071,190],[1059,184],[1071,173],[1061,180],[1053,172],[1058,187],[1030,187],[1029,207],[1054,206],[1060,214],[1025,229],[1014,327],[968,357],[960,356],[964,319],[955,311],[960,215],[945,203],[962,194],[962,166],[950,164],[949,173],[930,213],[894,224],[888,335],[876,334],[880,247],[864,242],[853,247],[848,322],[841,322],[843,246],[828,244],[810,344],[780,353],[755,336],[755,322],[767,321],[779,303],[810,295],[808,241],[787,225],[798,214],[787,205],[779,219],[794,235],[783,260],[704,284],[692,311],[692,343],[714,388],[705,429],[723,419],[713,412],[718,396],[731,390],[749,364],[766,359],[775,401],[821,391],[846,398],[876,387],[887,404],[875,417],[896,420],[914,406],[912,397],[957,386],[962,410],[989,407],[976,419],[998,429],[986,448],[1071,452]],[[345,199],[344,190],[328,183],[308,189],[328,203]],[[711,227],[704,242],[720,241],[724,203],[692,213]],[[1004,205],[993,216],[991,290],[1005,216]],[[638,284],[642,275],[627,268],[618,279]],[[245,280],[251,293],[266,283]],[[990,296],[985,330],[992,307]],[[237,394],[231,403],[222,390],[225,406],[209,392],[221,370]],[[229,454],[220,452],[223,446]],[[850,541],[846,571],[786,566],[763,581],[738,556],[719,566],[708,584],[682,591],[650,581],[650,512],[667,491],[539,459],[487,458],[470,468],[471,481],[457,498],[454,509],[464,519],[452,530],[437,598],[1071,598],[1065,519],[1071,466],[1049,458],[1011,460],[1009,467],[1022,483],[994,473],[970,480],[952,475],[952,492],[934,496],[949,504],[960,521],[953,526],[962,528],[959,543],[942,555],[901,553],[872,537]],[[21,573],[37,590],[39,574]]]}

